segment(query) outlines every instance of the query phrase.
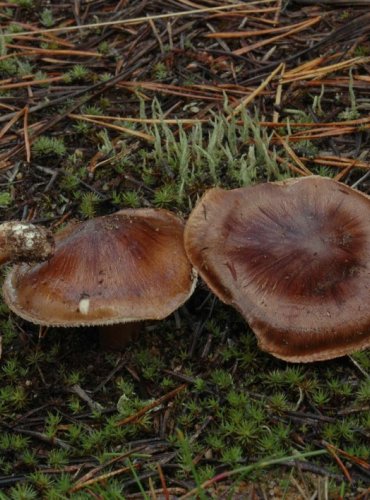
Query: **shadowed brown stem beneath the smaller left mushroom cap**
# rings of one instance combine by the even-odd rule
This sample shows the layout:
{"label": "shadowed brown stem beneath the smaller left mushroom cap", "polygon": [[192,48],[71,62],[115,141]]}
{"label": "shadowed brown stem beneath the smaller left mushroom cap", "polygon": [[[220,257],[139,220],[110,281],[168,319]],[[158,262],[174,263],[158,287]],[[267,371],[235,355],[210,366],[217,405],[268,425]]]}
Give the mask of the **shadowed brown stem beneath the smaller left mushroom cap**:
{"label": "shadowed brown stem beneath the smaller left mushroom cap", "polygon": [[105,350],[122,351],[131,341],[137,339],[142,327],[142,321],[102,325],[99,327],[100,345]]}

